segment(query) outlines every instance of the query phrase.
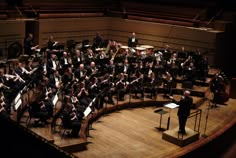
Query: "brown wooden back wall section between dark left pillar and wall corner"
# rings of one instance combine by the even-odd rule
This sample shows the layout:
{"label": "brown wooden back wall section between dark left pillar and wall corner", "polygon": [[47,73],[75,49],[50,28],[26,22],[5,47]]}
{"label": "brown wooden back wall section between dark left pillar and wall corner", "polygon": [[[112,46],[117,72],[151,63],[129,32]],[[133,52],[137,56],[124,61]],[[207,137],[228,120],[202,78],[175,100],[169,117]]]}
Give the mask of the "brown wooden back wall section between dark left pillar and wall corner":
{"label": "brown wooden back wall section between dark left pillar and wall corner", "polygon": [[60,43],[66,43],[67,40],[80,42],[89,39],[92,44],[97,31],[107,38],[107,21],[107,18],[41,19],[39,20],[39,45],[44,46],[49,35],[53,35]]}

